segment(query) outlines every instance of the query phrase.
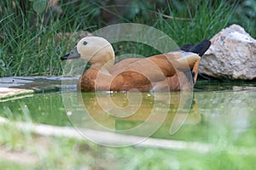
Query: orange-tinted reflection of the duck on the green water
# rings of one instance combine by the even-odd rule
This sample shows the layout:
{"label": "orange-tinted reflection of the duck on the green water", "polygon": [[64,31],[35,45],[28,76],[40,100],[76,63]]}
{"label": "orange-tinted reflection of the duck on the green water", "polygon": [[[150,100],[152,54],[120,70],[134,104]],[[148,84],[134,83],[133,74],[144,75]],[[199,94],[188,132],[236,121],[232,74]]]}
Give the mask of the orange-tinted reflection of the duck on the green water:
{"label": "orange-tinted reflection of the duck on the green water", "polygon": [[[184,124],[201,122],[197,101],[191,92],[81,93],[79,103],[94,122],[114,131],[146,123],[148,127],[157,124],[160,129],[168,128],[166,133],[174,133]],[[91,119],[80,124],[88,125]],[[143,132],[137,133],[143,135]]]}

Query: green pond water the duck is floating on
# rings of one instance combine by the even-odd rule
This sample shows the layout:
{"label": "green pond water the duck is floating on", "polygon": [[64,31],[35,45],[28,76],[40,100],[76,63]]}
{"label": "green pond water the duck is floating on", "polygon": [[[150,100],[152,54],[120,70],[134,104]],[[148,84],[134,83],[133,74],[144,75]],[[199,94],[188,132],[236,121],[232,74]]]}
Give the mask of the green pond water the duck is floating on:
{"label": "green pond water the duck is floating on", "polygon": [[2,99],[0,116],[255,150],[255,86],[255,82],[199,82],[191,93],[29,94]]}

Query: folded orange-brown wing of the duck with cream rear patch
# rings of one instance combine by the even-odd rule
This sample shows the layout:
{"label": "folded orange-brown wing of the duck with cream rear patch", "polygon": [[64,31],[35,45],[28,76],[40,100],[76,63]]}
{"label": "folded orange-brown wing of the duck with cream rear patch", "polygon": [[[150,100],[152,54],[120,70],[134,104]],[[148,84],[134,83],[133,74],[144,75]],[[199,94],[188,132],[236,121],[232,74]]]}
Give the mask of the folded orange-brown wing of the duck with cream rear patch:
{"label": "folded orange-brown wing of the duck with cream rear patch", "polygon": [[200,59],[197,54],[183,52],[124,59],[113,67],[120,70],[113,71],[118,74],[113,75],[111,87],[112,90],[137,88],[140,91],[149,91],[154,83],[165,82],[167,77],[177,76],[177,71],[190,71]]}

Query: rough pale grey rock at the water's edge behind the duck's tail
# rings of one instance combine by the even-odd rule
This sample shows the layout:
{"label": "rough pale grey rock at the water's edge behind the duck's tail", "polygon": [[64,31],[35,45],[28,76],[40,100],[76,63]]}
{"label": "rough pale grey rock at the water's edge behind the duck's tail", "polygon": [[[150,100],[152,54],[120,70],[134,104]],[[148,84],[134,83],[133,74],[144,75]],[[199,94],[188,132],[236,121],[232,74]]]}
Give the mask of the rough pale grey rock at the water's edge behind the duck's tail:
{"label": "rough pale grey rock at the water's edge behind the duck's tail", "polygon": [[256,78],[256,40],[241,26],[225,28],[211,42],[212,46],[201,58],[201,74],[232,80]]}

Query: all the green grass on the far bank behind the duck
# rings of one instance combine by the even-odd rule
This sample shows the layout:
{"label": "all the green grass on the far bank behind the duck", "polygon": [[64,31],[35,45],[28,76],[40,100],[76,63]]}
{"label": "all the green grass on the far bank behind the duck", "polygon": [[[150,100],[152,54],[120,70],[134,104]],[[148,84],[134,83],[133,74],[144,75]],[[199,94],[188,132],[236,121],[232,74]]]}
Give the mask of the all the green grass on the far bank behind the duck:
{"label": "all the green grass on the far bank behind the duck", "polygon": [[[129,17],[113,14],[117,15],[119,22],[154,26],[172,37],[178,45],[211,38],[225,26],[239,21],[236,14],[238,3],[211,3],[206,0],[175,2],[167,3],[164,8],[158,8],[158,11],[142,7],[141,4],[141,15],[134,12]],[[108,6],[104,6],[102,1],[60,1],[57,6],[59,12],[49,4],[43,13],[35,12],[32,2],[25,6],[26,11],[18,0],[1,4],[0,77],[61,75],[60,56],[71,50],[79,39],[73,32],[96,31],[108,25],[106,21],[100,20],[101,10],[108,10]],[[163,14],[167,16],[163,17]],[[249,33],[255,35],[253,23],[253,18],[250,18],[243,26],[247,26],[246,29],[252,31]],[[60,33],[66,35],[67,32],[71,34],[60,36]],[[119,54],[148,56],[157,53],[137,43],[128,43],[121,49],[118,48],[119,44],[114,47]]]}

